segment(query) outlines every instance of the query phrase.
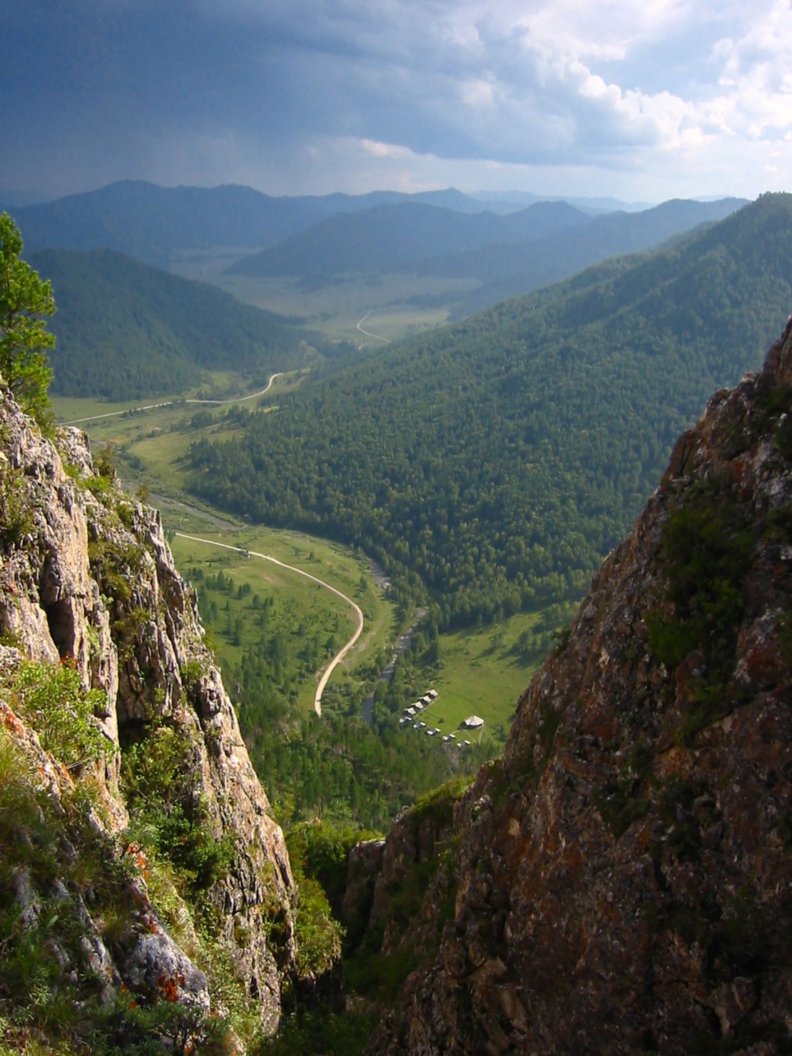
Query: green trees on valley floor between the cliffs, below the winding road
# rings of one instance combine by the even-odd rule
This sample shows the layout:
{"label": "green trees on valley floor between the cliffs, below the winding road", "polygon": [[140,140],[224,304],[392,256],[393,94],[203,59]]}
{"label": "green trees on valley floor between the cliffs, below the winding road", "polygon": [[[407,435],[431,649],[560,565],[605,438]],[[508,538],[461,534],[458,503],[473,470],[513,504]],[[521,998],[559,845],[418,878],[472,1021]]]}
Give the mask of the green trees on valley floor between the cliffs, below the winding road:
{"label": "green trees on valley floor between the cliffs, below the winding road", "polygon": [[[401,807],[460,770],[473,773],[491,753],[487,742],[441,749],[398,727],[404,701],[417,699],[431,679],[437,653],[431,621],[413,636],[390,682],[378,682],[371,724],[361,719],[363,690],[350,683],[325,691],[319,718],[297,712],[295,686],[329,660],[340,639],[325,640],[316,624],[289,631],[276,611],[282,598],[253,592],[222,568],[206,574],[191,566],[186,573],[199,589],[250,758],[283,824],[319,815],[382,829]],[[228,645],[242,646],[239,659]],[[359,673],[366,683],[386,659]]]}

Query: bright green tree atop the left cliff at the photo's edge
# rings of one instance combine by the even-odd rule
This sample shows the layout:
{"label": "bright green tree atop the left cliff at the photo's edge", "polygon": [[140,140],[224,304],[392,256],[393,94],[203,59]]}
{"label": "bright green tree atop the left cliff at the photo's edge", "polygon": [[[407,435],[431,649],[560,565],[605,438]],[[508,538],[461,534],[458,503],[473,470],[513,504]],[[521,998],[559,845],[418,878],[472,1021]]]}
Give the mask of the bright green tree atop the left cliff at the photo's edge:
{"label": "bright green tree atop the left cliff at the photo's edge", "polygon": [[55,312],[52,286],[21,259],[22,237],[7,213],[0,215],[0,374],[17,402],[38,421],[50,404],[46,353],[55,338],[44,316]]}

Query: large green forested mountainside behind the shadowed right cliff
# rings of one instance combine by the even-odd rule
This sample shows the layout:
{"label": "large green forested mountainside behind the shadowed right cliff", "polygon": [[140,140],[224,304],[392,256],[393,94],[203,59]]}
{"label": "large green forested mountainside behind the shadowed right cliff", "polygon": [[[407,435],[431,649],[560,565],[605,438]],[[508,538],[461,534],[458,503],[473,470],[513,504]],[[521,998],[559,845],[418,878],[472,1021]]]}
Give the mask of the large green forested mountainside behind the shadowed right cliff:
{"label": "large green forested mountainside behind the shadowed right cliff", "polygon": [[792,196],[304,385],[192,449],[195,493],[361,545],[464,624],[580,596],[792,301]]}

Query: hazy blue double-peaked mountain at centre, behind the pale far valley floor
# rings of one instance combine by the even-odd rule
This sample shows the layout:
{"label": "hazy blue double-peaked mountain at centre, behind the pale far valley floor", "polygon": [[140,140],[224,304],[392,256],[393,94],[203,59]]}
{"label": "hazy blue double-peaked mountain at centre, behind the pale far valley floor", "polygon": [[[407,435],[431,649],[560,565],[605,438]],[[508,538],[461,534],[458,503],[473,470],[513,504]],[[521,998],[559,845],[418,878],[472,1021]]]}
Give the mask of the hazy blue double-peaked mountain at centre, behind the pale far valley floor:
{"label": "hazy blue double-peaked mountain at centre, behind the pale far valley floor", "polygon": [[589,216],[566,202],[541,202],[506,216],[491,212],[467,215],[413,202],[379,205],[331,216],[276,246],[237,261],[226,271],[302,278],[392,271],[409,267],[407,262],[419,262],[437,253],[472,250],[492,243],[524,243],[590,223]]}

